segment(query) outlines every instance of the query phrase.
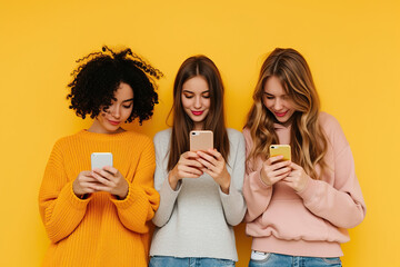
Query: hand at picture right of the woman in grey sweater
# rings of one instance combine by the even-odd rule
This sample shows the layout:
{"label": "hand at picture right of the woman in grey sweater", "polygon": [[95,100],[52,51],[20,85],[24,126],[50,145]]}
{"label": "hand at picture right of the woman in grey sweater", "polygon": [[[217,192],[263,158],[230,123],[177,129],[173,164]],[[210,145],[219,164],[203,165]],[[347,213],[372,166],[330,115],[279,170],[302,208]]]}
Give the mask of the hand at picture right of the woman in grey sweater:
{"label": "hand at picture right of the woman in grey sweater", "polygon": [[197,154],[200,157],[197,160],[204,166],[201,170],[211,176],[224,194],[229,194],[231,177],[222,155],[217,149],[209,149],[207,152],[198,151]]}

